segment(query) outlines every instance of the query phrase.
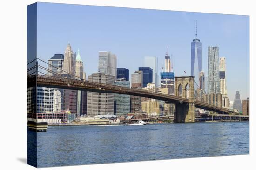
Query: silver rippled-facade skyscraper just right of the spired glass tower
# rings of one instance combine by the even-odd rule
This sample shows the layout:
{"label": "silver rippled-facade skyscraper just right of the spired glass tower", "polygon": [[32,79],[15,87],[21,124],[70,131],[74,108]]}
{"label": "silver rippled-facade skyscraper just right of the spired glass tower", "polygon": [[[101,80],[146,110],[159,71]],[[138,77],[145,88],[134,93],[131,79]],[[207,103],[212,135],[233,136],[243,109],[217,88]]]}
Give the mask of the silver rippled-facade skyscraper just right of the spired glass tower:
{"label": "silver rippled-facade skyscraper just right of the spired glass tower", "polygon": [[220,93],[219,47],[208,47],[208,94]]}

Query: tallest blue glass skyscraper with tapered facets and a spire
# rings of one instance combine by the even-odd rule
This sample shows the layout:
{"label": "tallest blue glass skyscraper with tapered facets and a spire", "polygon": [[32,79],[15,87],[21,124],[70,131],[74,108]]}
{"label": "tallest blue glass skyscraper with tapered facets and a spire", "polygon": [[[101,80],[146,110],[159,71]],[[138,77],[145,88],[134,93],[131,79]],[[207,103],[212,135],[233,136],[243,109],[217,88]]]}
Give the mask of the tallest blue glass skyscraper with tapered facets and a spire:
{"label": "tallest blue glass skyscraper with tapered facets and a spire", "polygon": [[[202,71],[202,43],[197,39],[197,23],[195,25],[195,39],[191,42],[191,76],[199,83],[199,73]],[[194,86],[197,87],[197,86]],[[198,87],[199,88],[199,87]],[[196,88],[195,88],[196,90]]]}

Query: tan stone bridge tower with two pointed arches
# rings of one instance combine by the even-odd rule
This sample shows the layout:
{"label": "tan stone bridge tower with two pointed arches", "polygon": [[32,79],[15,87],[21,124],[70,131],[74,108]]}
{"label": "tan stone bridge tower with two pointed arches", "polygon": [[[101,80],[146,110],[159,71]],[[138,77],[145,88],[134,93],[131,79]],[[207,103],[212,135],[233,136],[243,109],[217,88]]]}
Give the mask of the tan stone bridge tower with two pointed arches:
{"label": "tan stone bridge tower with two pointed arches", "polygon": [[175,96],[189,99],[189,103],[176,103],[176,123],[195,122],[194,76],[175,77]]}

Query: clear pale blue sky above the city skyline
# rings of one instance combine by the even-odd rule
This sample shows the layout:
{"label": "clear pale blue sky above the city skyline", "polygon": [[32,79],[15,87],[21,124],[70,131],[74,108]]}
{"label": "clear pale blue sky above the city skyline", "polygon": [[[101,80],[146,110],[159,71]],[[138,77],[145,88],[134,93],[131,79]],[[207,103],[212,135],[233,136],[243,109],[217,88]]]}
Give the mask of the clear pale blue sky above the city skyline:
{"label": "clear pale blue sky above the city skyline", "polygon": [[158,57],[158,72],[169,46],[175,76],[190,74],[190,43],[202,42],[202,70],[207,76],[208,46],[226,57],[229,99],[240,91],[249,97],[249,16],[148,10],[56,3],[38,4],[37,54],[48,60],[64,54],[68,41],[80,49],[87,76],[98,71],[98,51],[117,55],[117,67],[130,74],[143,66],[144,56]]}

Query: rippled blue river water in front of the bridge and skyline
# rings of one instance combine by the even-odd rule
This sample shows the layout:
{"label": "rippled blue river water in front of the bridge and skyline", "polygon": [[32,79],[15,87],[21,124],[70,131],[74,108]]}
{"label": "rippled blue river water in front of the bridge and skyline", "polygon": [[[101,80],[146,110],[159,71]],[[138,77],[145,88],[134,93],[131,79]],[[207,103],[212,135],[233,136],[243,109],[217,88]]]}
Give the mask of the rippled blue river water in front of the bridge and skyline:
{"label": "rippled blue river water in front of the bridge and skyline", "polygon": [[249,122],[49,126],[37,133],[38,167],[239,154],[249,154]]}

